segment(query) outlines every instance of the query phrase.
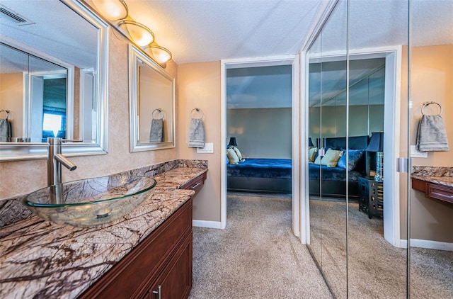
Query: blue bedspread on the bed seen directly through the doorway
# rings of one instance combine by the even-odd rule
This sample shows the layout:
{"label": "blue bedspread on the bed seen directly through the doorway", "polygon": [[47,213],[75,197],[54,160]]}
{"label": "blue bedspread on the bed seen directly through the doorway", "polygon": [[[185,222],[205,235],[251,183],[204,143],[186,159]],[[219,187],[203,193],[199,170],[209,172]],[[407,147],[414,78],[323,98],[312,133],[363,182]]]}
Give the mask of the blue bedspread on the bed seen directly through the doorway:
{"label": "blue bedspread on the bed seen directly through the doorway", "polygon": [[256,178],[291,179],[291,159],[253,159],[239,164],[227,164],[227,176],[248,176]]}

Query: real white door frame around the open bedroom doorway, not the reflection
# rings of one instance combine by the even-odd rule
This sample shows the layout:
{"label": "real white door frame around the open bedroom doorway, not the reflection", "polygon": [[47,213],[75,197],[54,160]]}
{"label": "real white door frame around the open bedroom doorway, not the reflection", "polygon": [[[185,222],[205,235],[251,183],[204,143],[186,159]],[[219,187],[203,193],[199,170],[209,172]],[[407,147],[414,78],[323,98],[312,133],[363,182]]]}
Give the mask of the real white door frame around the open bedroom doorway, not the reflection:
{"label": "real white door frame around the open bedroom doorway, not the reflection", "polygon": [[[221,155],[226,157],[226,69],[243,67],[270,67],[277,65],[292,66],[292,230],[294,235],[300,236],[300,94],[299,94],[299,55],[280,55],[272,57],[241,58],[220,61],[220,130],[221,130]],[[224,161],[224,160],[222,160]],[[226,227],[226,163],[221,167],[220,187],[220,222],[221,228]]]}

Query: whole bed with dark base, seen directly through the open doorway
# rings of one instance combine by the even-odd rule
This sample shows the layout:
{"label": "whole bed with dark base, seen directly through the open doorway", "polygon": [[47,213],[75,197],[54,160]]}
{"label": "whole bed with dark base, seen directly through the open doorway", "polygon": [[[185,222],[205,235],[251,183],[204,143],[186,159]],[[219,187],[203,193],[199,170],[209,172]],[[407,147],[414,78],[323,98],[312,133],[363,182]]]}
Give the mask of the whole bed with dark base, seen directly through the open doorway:
{"label": "whole bed with dark base, seen directly through the open doorway", "polygon": [[246,158],[238,164],[226,164],[228,191],[291,193],[292,159]]}

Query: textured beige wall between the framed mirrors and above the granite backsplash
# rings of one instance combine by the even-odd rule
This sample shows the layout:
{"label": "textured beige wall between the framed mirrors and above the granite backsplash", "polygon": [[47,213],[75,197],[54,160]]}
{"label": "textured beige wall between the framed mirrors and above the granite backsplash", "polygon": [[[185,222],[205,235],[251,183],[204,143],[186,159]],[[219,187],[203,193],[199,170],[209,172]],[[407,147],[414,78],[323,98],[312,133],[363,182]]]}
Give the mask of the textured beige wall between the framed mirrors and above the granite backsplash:
{"label": "textured beige wall between the framed mirrors and above the granite backsplash", "polygon": [[[108,154],[74,157],[75,171],[62,169],[63,181],[114,174],[119,171],[178,159],[177,149],[129,152],[128,44],[110,32],[108,91]],[[177,76],[169,62],[166,70]],[[177,106],[177,105],[176,105]],[[178,110],[176,110],[178,111]],[[0,163],[0,198],[23,195],[47,185],[46,160]]]}

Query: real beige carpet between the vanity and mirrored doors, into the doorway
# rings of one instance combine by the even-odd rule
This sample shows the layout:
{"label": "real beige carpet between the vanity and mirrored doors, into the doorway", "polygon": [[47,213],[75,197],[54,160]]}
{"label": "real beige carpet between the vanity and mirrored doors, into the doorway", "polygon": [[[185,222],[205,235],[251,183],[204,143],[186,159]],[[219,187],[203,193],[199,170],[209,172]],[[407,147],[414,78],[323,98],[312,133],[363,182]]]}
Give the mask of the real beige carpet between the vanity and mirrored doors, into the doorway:
{"label": "real beige carpet between the vanity and mirrored doors, into the doorway", "polygon": [[291,209],[288,195],[229,193],[225,230],[194,227],[190,298],[332,298]]}

